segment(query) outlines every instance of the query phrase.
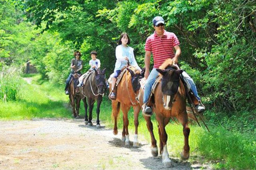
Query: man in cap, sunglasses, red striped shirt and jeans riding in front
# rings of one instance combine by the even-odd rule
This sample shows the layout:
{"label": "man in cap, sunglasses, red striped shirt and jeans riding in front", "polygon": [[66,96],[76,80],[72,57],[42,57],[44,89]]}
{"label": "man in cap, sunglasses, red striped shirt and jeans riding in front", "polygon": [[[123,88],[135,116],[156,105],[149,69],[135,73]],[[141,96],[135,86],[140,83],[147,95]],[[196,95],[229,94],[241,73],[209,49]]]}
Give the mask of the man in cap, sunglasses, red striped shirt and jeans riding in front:
{"label": "man in cap, sunglasses, red striped shirt and jeans riding in front", "polygon": [[[156,71],[156,68],[159,68],[159,66],[164,63],[166,59],[172,59],[172,64],[178,63],[178,57],[181,54],[180,49],[180,42],[176,35],[174,33],[168,32],[164,30],[164,19],[160,16],[156,16],[153,19],[153,27],[155,29],[154,33],[150,35],[145,44],[145,78],[146,78],[146,84],[145,84],[145,91],[143,96],[143,105],[142,105],[142,114],[146,116],[152,115],[152,108],[150,106],[146,106],[146,103],[148,102],[148,98],[150,96],[152,85],[154,84],[156,80],[156,76],[158,75],[158,72]],[[175,53],[174,53],[175,49]],[[150,56],[151,53],[153,54],[153,60],[154,60],[154,66],[151,72],[149,72],[149,66],[150,66]],[[192,78],[186,73],[183,72],[182,75],[186,78],[188,83],[191,86],[191,90],[198,99],[199,103],[201,104],[201,99],[198,96],[196,85],[194,84],[194,81]],[[198,109],[198,112],[204,111],[205,107],[202,105],[196,106]]]}

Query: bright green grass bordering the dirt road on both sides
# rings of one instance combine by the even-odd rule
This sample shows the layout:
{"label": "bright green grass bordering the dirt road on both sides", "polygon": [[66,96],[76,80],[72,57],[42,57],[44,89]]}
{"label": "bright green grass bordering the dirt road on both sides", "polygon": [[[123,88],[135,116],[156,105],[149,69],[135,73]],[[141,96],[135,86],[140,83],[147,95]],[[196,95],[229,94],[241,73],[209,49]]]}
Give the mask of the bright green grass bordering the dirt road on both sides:
{"label": "bright green grass bordering the dirt road on both sides", "polygon": [[[54,86],[45,82],[38,74],[26,74],[23,77],[32,78],[32,84],[22,80],[20,92],[22,99],[19,101],[0,102],[0,120],[22,120],[32,118],[61,118],[72,119],[71,109],[67,108],[68,96],[64,94],[63,86]],[[100,121],[104,121],[106,127],[113,128],[111,118],[111,102],[107,96],[104,96],[100,107]],[[93,119],[96,119],[96,105],[93,111]],[[210,112],[210,111],[209,111]],[[214,113],[206,113],[214,114]],[[80,115],[84,116],[84,107],[81,103]],[[246,114],[244,114],[246,115]],[[130,109],[129,133],[134,134],[133,110]],[[252,114],[248,113],[252,119]],[[208,121],[210,133],[205,128],[198,125],[190,125],[190,159],[189,162],[212,162],[215,169],[250,169],[256,170],[256,130],[254,126],[246,125],[247,121],[235,121],[237,117],[228,121],[226,117],[216,123],[213,120]],[[245,118],[246,119],[246,118]],[[223,125],[226,122],[226,125]],[[150,135],[142,115],[139,115],[138,135],[139,141],[146,139],[150,143]],[[159,145],[159,136],[157,123],[154,115],[152,116],[154,134]],[[231,125],[231,123],[233,123]],[[231,126],[230,126],[231,125]],[[235,127],[239,125],[244,127],[242,132]],[[118,132],[122,132],[122,112],[118,118]],[[252,127],[250,127],[252,126]],[[231,127],[228,128],[228,127]],[[248,131],[248,129],[253,129]],[[233,130],[232,130],[233,129]],[[180,152],[184,145],[184,136],[182,126],[176,123],[169,123],[166,126],[168,133],[168,151],[172,158],[180,159]],[[249,133],[248,133],[249,132]],[[130,139],[133,141],[133,139]],[[107,164],[113,164],[113,161],[103,162],[104,169]],[[57,164],[56,164],[57,165]],[[56,166],[55,164],[53,166]]]}

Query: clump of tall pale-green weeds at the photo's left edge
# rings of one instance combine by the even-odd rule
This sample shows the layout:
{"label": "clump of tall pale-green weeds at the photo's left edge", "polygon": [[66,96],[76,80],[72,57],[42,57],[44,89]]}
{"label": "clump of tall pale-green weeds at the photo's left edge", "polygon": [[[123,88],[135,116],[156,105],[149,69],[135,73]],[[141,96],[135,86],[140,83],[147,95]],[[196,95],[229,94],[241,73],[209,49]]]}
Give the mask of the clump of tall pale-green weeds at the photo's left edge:
{"label": "clump of tall pale-green weeds at the photo's left edge", "polygon": [[0,99],[15,101],[21,99],[21,70],[14,66],[4,66],[0,71]]}

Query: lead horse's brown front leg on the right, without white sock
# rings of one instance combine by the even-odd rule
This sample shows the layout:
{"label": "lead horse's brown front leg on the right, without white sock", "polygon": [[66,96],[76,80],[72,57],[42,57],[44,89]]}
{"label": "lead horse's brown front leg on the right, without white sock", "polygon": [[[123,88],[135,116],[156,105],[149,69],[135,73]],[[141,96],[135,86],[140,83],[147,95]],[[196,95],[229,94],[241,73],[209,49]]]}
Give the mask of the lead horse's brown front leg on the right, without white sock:
{"label": "lead horse's brown front leg on the right, without white sock", "polygon": [[189,158],[189,150],[190,150],[190,147],[188,145],[188,137],[189,137],[190,129],[188,127],[188,115],[186,114],[186,110],[183,111],[182,114],[179,114],[177,119],[183,125],[184,148],[180,153],[180,157],[185,160]]}

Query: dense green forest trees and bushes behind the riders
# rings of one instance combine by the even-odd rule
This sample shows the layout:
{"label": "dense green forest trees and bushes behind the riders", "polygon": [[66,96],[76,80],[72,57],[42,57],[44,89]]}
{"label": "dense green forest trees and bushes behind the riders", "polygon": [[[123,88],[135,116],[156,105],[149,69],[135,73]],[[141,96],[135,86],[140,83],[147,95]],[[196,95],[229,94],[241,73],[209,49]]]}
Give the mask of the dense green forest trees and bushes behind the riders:
{"label": "dense green forest trees and bushes behind the riders", "polygon": [[20,100],[28,59],[43,80],[64,88],[74,51],[81,51],[85,72],[96,50],[109,76],[122,32],[144,67],[154,16],[180,40],[179,63],[197,85],[208,123],[255,137],[255,0],[0,0],[1,101]]}

